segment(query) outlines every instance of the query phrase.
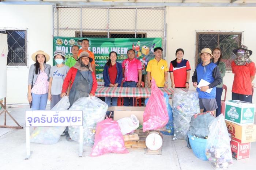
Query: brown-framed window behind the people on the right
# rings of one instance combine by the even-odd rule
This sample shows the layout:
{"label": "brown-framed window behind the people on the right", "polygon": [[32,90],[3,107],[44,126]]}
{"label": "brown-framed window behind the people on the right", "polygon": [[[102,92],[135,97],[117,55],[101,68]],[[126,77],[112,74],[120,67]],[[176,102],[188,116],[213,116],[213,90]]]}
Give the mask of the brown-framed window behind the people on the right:
{"label": "brown-framed window behind the people on the right", "polygon": [[236,57],[233,49],[241,45],[241,36],[241,32],[196,32],[196,65],[201,63],[198,54],[203,48],[213,50],[215,47],[219,47],[226,70],[231,70],[231,61]]}

